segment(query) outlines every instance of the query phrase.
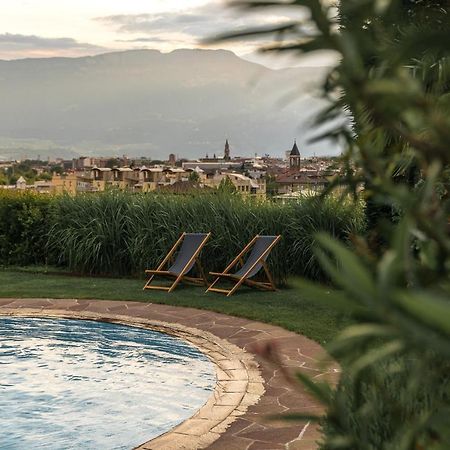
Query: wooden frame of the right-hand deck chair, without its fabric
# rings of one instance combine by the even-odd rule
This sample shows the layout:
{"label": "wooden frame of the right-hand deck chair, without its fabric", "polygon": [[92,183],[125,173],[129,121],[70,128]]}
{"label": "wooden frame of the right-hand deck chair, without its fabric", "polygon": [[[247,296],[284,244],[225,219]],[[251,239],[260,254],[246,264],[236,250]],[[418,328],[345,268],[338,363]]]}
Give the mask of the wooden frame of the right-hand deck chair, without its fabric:
{"label": "wooden frame of the right-hand deck chair, without its fabric", "polygon": [[[278,243],[278,241],[281,239],[281,236],[277,236],[276,239],[267,247],[267,249],[261,254],[261,256],[255,261],[254,264],[252,264],[250,266],[250,268],[247,270],[247,272],[245,272],[242,276],[236,276],[234,274],[229,273],[229,271],[236,266],[238,263],[241,263],[242,265],[244,264],[244,260],[243,260],[243,256],[250,251],[250,249],[252,248],[253,244],[258,240],[258,238],[260,237],[260,235],[256,235],[245,247],[244,249],[241,251],[241,253],[239,253],[239,255],[236,256],[236,258],[233,259],[233,261],[231,261],[231,263],[225,268],[225,270],[222,273],[218,273],[218,272],[210,272],[210,275],[213,275],[216,277],[216,279],[213,281],[213,283],[209,286],[209,288],[206,290],[206,292],[218,292],[220,294],[226,294],[227,297],[230,297],[231,295],[233,295],[241,286],[242,284],[246,284],[247,286],[250,287],[255,287],[258,289],[263,289],[263,290],[267,290],[267,291],[276,291],[276,287],[275,287],[275,283],[273,281],[273,277],[269,271],[269,268],[267,266],[266,261],[264,260],[264,258],[266,257],[266,255],[268,255],[271,251],[272,248],[275,247],[275,245]],[[264,270],[264,273],[267,277],[267,281],[254,281],[254,280],[249,280],[247,277],[248,275],[252,272],[252,270],[258,265],[261,264],[262,268]],[[220,289],[220,288],[216,288],[214,287],[220,280],[221,278],[226,278],[230,281],[235,281],[236,284],[231,288],[231,289]]]}

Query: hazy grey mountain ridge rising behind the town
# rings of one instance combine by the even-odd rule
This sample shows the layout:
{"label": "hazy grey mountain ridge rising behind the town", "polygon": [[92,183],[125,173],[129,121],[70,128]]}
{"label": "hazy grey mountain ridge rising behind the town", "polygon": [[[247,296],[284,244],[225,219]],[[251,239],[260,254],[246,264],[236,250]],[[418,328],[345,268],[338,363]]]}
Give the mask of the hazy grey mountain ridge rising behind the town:
{"label": "hazy grey mountain ridge rising behind the town", "polygon": [[[75,154],[166,158],[303,154],[323,68],[271,70],[225,50],[137,50],[0,61],[0,159]],[[308,131],[309,130],[309,131]]]}

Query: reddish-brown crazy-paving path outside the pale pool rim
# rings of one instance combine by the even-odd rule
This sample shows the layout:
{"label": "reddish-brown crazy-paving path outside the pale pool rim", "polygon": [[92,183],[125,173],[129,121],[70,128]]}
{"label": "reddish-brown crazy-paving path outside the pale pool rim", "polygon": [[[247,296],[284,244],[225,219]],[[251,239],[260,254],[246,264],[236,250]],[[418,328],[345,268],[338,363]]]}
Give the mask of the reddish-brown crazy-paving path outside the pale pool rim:
{"label": "reddish-brown crazy-paving path outside the pale pool rim", "polygon": [[[338,368],[322,369],[318,360],[323,349],[304,336],[280,327],[210,311],[152,303],[103,300],[0,299],[0,312],[6,309],[38,308],[74,312],[117,314],[134,318],[176,323],[207,331],[252,352],[271,343],[277,349],[282,368],[257,356],[264,379],[265,393],[245,415],[236,419],[227,431],[208,448],[214,450],[315,450],[320,433],[310,423],[289,423],[268,418],[282,413],[321,413],[322,408],[298,385],[288,381],[284,372],[303,371],[314,378],[338,377]],[[300,312],[299,312],[300,313]]]}

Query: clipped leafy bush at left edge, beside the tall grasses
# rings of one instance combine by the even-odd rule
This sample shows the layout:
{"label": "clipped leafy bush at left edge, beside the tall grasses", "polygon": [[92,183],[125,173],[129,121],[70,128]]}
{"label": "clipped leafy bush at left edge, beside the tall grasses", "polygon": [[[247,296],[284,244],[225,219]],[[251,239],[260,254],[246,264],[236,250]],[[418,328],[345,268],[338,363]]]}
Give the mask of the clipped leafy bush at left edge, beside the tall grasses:
{"label": "clipped leafy bush at left edge, beside the tall grasses", "polygon": [[51,198],[0,190],[0,264],[46,262]]}

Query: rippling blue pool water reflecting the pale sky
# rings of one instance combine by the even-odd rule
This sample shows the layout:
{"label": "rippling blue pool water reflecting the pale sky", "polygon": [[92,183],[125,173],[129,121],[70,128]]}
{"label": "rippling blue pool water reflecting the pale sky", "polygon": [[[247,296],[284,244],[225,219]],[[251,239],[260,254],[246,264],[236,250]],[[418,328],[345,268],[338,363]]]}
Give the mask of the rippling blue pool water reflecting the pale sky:
{"label": "rippling blue pool water reflecting the pale sky", "polygon": [[192,416],[216,383],[186,342],[82,320],[0,317],[0,449],[131,449]]}

